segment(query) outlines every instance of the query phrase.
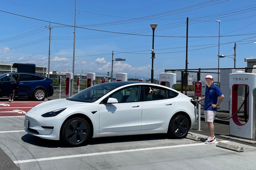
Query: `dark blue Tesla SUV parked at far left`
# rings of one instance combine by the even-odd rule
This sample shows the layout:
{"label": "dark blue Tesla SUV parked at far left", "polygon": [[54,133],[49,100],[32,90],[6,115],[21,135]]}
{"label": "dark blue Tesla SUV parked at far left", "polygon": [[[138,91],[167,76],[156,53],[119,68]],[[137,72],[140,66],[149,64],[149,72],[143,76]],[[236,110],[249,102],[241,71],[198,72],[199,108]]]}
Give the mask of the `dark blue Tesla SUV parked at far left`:
{"label": "dark blue Tesla SUV parked at far left", "polygon": [[53,95],[53,81],[51,79],[33,73],[10,72],[0,75],[0,97],[12,95],[15,79],[17,80],[15,98],[33,98],[42,101]]}

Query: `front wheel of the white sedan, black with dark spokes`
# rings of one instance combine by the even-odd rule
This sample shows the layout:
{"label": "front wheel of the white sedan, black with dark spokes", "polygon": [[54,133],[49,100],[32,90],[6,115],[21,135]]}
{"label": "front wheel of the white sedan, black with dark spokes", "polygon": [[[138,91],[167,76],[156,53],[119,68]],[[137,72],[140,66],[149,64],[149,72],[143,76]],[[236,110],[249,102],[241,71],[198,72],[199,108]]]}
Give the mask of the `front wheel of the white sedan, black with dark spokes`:
{"label": "front wheel of the white sedan, black with dark spokes", "polygon": [[60,135],[67,146],[82,146],[90,136],[90,125],[81,117],[73,117],[63,124]]}

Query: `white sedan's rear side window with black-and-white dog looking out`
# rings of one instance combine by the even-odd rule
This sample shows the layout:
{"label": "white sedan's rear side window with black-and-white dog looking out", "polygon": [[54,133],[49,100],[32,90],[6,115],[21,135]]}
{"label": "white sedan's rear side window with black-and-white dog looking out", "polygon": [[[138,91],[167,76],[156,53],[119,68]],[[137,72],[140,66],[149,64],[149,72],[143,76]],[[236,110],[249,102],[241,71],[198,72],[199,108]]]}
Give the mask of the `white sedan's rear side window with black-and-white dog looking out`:
{"label": "white sedan's rear side window with black-and-white dog looking out", "polygon": [[163,88],[157,88],[153,86],[145,86],[144,87],[144,100],[160,100],[166,99],[166,90]]}

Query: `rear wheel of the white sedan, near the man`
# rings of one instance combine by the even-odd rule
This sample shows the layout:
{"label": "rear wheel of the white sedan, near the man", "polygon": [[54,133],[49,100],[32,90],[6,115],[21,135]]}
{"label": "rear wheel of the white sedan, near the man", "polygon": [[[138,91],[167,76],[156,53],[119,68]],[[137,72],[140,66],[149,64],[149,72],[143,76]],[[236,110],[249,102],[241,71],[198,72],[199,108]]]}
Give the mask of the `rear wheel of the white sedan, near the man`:
{"label": "rear wheel of the white sedan, near the man", "polygon": [[182,139],[187,136],[190,123],[186,116],[177,115],[169,123],[168,134],[174,139]]}

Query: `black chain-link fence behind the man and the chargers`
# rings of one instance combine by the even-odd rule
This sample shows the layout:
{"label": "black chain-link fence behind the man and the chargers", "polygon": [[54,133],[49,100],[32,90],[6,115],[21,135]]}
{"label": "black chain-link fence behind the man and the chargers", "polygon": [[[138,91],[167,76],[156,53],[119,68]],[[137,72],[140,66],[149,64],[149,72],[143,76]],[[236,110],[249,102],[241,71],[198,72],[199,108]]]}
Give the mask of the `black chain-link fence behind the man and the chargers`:
{"label": "black chain-link fence behind the man and the chargers", "polygon": [[[217,116],[227,118],[230,117],[230,88],[229,88],[229,74],[237,72],[248,72],[255,73],[256,68],[227,68],[227,69],[184,69],[184,70],[165,70],[167,73],[175,73],[176,76],[176,86],[175,90],[180,91],[181,93],[191,97],[197,98],[194,96],[194,82],[201,81],[203,84],[203,96],[205,91],[205,77],[206,75],[212,75],[214,79],[214,84],[219,86],[221,91],[224,94],[224,99],[220,106],[217,109]],[[237,116],[239,120],[243,122],[248,121],[248,86],[238,85],[237,86],[237,107],[239,108],[244,100],[246,100],[238,112]],[[204,104],[204,101],[201,102]],[[204,117],[204,107],[201,105],[201,116]],[[197,108],[198,111],[198,108]]]}

